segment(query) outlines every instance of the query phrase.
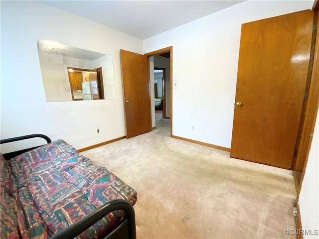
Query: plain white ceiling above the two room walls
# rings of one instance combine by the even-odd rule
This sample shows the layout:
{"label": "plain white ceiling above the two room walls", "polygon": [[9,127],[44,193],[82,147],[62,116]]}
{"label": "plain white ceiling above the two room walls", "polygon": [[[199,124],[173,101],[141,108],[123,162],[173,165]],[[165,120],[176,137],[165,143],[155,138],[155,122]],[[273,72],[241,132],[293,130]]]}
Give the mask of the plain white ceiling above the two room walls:
{"label": "plain white ceiling above the two room walls", "polygon": [[139,39],[235,5],[241,0],[41,0]]}

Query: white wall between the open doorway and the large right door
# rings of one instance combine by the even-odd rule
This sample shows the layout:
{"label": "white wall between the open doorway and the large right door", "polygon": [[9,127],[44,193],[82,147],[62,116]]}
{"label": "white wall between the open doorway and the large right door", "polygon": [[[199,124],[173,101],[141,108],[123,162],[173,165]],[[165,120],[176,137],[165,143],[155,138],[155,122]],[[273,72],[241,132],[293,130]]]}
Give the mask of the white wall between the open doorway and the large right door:
{"label": "white wall between the open doorway and the large right door", "polygon": [[145,53],[173,46],[173,135],[230,148],[241,24],[313,2],[244,1],[144,40]]}

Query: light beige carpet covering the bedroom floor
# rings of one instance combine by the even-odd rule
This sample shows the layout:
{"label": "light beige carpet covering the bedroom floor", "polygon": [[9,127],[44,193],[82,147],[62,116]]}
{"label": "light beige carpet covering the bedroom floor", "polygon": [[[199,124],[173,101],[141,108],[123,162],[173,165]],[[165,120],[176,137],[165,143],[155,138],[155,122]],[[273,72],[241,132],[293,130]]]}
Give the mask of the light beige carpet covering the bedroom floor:
{"label": "light beige carpet covering the bedroom floor", "polygon": [[169,124],[82,152],[138,192],[138,239],[296,238],[290,170],[170,138]]}

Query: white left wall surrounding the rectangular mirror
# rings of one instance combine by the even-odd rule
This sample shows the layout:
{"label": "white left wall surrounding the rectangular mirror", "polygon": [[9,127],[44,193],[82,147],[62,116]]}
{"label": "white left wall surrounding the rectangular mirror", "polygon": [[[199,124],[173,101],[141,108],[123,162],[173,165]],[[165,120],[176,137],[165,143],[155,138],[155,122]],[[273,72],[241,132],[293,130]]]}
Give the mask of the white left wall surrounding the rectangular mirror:
{"label": "white left wall surrounding the rectangular mirror", "polygon": [[[37,39],[113,55],[116,99],[47,103]],[[39,2],[1,1],[1,138],[44,133],[83,148],[124,136],[120,49],[143,53],[143,42]]]}

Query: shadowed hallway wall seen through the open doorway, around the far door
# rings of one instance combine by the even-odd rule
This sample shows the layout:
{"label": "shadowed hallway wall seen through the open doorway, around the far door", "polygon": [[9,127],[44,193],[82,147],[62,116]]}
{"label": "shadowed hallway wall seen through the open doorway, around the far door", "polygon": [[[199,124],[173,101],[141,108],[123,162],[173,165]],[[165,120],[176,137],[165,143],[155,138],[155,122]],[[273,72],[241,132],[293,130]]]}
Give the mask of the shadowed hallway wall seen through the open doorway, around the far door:
{"label": "shadowed hallway wall seen through the open doorway, around the far door", "polygon": [[170,59],[162,56],[155,56],[154,66],[165,68],[166,117],[170,117]]}

